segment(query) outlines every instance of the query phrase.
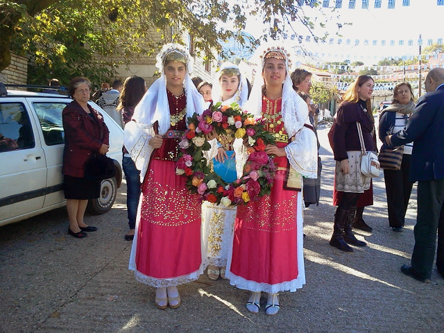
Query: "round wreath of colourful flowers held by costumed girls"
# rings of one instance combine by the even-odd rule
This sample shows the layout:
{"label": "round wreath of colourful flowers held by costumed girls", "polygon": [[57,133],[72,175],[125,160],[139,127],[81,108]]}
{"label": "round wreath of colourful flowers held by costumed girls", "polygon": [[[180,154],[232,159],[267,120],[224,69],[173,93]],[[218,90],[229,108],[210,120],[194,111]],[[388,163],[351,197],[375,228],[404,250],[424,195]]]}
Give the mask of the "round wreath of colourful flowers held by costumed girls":
{"label": "round wreath of colourful flowers held by costumed girls", "polygon": [[[218,135],[230,129],[237,139],[248,140],[248,160],[240,179],[225,182],[207,165],[203,151],[210,150],[205,134],[215,130]],[[267,144],[275,144],[273,135],[264,130],[263,119],[243,112],[237,103],[221,102],[188,118],[188,129],[179,143],[176,174],[187,177],[187,188],[200,194],[210,203],[224,206],[246,204],[270,194],[275,176],[273,158],[264,151]]]}

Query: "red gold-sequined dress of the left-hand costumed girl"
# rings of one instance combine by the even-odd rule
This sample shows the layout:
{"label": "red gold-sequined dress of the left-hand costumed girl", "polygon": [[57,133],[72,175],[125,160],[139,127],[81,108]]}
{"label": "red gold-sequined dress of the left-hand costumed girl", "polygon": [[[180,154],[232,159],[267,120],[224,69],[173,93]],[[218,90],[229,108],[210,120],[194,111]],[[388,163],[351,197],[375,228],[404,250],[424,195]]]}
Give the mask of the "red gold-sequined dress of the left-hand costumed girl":
{"label": "red gold-sequined dress of the left-hand costumed girl", "polygon": [[[174,96],[168,91],[167,95],[171,125],[174,123],[170,130],[185,131],[186,96]],[[153,152],[142,184],[135,276],[153,287],[197,280],[204,268],[200,248],[201,203],[185,187],[185,177],[176,175],[174,161],[179,141],[164,138],[162,147]]]}

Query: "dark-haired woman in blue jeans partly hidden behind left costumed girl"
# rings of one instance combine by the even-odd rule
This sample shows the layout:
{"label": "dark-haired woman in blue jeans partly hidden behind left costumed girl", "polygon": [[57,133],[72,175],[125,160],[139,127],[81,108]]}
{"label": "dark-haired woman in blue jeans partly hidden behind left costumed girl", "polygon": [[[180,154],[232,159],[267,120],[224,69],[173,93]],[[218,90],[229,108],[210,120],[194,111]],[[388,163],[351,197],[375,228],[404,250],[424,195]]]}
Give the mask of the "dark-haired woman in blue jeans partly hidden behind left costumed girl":
{"label": "dark-haired woman in blue jeans partly hidden behind left costumed girl", "polygon": [[[117,110],[123,114],[123,122],[128,123],[134,114],[134,108],[142,99],[146,92],[146,83],[139,76],[130,76],[123,83],[123,89],[120,94],[120,103]],[[140,198],[140,171],[131,159],[130,154],[123,146],[123,173],[126,179],[126,207],[128,210],[128,225],[130,231],[125,235],[126,241],[134,239],[134,230],[136,225],[137,206]]]}

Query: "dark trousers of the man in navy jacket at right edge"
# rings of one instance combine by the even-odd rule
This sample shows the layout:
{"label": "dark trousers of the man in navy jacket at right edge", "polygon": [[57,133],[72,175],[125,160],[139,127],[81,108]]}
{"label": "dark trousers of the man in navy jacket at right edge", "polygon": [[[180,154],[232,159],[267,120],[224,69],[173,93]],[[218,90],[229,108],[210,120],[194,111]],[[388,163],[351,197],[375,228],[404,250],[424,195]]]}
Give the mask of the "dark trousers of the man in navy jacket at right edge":
{"label": "dark trousers of the man in navy jacket at right edge", "polygon": [[438,253],[436,266],[444,269],[444,178],[418,182],[418,216],[414,229],[415,246],[411,266],[421,278],[429,279],[435,258],[436,230]]}

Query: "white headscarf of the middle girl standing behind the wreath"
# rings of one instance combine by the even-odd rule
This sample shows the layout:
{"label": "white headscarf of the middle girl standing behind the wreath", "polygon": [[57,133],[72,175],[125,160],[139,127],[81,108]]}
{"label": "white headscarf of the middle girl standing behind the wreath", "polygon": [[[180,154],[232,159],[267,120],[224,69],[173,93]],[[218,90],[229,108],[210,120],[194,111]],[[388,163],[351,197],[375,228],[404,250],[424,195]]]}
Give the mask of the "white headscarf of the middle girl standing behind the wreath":
{"label": "white headscarf of the middle girl standing behind the wreath", "polygon": [[[237,88],[237,92],[234,94],[234,96],[232,96],[231,99],[228,99],[226,101],[222,101],[222,89],[221,89],[220,78],[223,74],[226,74],[227,72],[233,73],[238,76],[239,87]],[[213,97],[214,104],[221,101],[223,105],[230,105],[231,103],[236,102],[239,104],[239,106],[241,108],[242,108],[242,106],[244,106],[244,104],[246,103],[246,101],[248,99],[247,78],[244,74],[241,73],[241,71],[239,70],[239,67],[237,65],[234,65],[230,62],[224,62],[221,65],[219,75],[216,77],[216,79],[214,80],[214,83],[213,83],[212,97]]]}

